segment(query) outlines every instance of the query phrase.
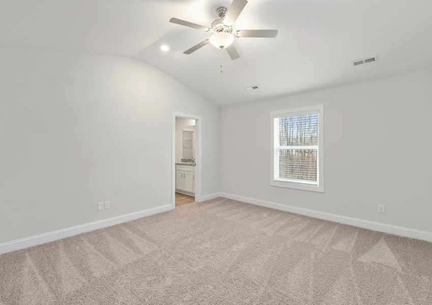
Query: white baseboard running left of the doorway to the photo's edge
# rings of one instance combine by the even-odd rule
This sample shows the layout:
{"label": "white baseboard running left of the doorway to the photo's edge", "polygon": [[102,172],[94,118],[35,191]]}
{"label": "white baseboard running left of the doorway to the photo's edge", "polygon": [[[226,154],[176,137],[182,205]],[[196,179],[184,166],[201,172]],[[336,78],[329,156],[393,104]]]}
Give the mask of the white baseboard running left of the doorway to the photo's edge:
{"label": "white baseboard running left of the doorway to the photo's edge", "polygon": [[24,237],[12,241],[3,242],[0,243],[0,254],[41,245],[42,243],[62,239],[65,237],[70,237],[84,232],[90,232],[93,230],[110,227],[134,219],[158,214],[160,212],[168,211],[170,209],[172,209],[172,205],[166,204],[166,205],[152,207],[145,210],[140,210],[140,211],[136,211],[136,212],[132,212],[132,213],[116,216],[116,217],[90,222],[87,224],[82,224],[82,225],[73,226],[73,227],[60,229],[56,231],[51,231],[47,233],[42,233],[30,237]]}

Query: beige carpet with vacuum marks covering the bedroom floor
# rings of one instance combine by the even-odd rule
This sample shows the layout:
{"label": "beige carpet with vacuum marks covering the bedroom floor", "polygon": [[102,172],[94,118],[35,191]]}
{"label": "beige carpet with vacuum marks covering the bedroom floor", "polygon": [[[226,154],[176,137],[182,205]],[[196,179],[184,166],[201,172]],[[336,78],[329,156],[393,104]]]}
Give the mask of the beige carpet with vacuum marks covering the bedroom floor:
{"label": "beige carpet with vacuum marks covering the bedroom floor", "polygon": [[0,256],[0,304],[432,304],[432,244],[218,198]]}

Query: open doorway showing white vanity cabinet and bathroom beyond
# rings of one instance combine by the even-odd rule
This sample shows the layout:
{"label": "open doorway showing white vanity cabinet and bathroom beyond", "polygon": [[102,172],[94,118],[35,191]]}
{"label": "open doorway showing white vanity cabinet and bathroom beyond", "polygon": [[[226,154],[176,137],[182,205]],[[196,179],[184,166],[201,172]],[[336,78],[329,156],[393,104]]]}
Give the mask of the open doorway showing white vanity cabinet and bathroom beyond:
{"label": "open doorway showing white vanity cabinet and bathroom beyond", "polygon": [[171,204],[199,202],[201,194],[201,118],[196,115],[172,115]]}

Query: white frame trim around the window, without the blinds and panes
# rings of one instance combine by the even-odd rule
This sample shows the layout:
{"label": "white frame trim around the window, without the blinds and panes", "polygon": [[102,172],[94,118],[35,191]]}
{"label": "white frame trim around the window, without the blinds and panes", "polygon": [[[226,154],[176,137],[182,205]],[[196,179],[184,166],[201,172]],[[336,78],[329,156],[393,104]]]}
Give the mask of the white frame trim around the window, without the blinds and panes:
{"label": "white frame trim around the window, without the blinds and panes", "polygon": [[[317,185],[303,182],[280,181],[274,177],[274,118],[291,116],[296,114],[308,114],[318,112],[318,158],[317,158]],[[270,111],[270,186],[313,191],[324,193],[324,106],[314,105],[293,109]]]}

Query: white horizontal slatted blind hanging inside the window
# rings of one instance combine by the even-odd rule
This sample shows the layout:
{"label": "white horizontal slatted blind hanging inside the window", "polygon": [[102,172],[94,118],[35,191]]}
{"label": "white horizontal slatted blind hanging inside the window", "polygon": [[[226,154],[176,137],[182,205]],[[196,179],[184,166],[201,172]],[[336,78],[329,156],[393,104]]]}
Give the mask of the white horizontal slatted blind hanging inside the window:
{"label": "white horizontal slatted blind hanging inside the window", "polygon": [[319,113],[273,118],[274,180],[318,186]]}

